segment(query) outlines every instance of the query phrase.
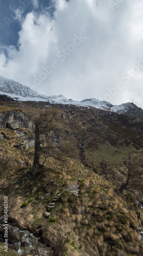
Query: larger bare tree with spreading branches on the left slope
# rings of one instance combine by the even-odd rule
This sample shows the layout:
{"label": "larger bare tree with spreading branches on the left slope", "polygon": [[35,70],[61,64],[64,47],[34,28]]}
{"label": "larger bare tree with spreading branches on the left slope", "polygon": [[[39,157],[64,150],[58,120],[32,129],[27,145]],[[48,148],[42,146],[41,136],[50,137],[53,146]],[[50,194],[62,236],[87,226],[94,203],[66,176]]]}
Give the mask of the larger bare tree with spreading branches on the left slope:
{"label": "larger bare tree with spreading branches on the left slope", "polygon": [[36,114],[34,133],[28,138],[35,141],[34,163],[32,170],[27,172],[28,177],[33,178],[39,173],[48,157],[64,161],[66,157],[78,155],[78,150],[75,152],[75,145],[69,141],[69,134],[66,134],[67,123],[68,121],[63,120],[56,109],[42,110]]}

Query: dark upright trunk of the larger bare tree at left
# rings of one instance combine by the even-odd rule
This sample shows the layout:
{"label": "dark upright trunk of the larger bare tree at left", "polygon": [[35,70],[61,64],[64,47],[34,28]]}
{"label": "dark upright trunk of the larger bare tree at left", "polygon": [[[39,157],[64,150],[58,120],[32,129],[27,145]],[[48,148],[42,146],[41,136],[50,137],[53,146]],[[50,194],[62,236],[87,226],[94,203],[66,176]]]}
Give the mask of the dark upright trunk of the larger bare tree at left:
{"label": "dark upright trunk of the larger bare tree at left", "polygon": [[35,124],[35,152],[33,163],[33,175],[35,175],[40,169],[40,132],[39,123]]}

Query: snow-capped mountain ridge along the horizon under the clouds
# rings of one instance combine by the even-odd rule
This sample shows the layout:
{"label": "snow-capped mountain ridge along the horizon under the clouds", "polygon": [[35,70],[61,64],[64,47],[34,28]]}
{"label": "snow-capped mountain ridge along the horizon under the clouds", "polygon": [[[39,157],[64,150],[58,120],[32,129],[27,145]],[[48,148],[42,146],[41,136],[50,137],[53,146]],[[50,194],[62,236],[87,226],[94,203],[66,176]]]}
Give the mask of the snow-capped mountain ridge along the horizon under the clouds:
{"label": "snow-capped mountain ridge along the horizon under the clouds", "polygon": [[63,95],[45,96],[21,83],[0,76],[0,94],[7,95],[12,98],[18,98],[21,101],[48,101],[53,104],[72,104],[80,106],[94,106],[97,109],[117,112],[119,114],[138,115],[143,117],[143,110],[138,108],[134,103],[123,103],[121,105],[112,105],[107,101],[100,101],[95,98],[74,101],[67,99]]}

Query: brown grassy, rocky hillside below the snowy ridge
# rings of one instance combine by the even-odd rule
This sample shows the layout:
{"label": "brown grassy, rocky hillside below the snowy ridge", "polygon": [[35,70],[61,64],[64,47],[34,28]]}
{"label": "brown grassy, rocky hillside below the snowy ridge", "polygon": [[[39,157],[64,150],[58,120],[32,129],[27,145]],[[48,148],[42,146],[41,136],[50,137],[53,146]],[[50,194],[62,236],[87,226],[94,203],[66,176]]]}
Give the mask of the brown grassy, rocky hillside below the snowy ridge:
{"label": "brown grassy, rocky hillside below the snowy ridge", "polygon": [[[30,137],[41,110],[56,111],[58,126],[54,123],[49,140],[55,149],[64,146],[57,158],[48,156],[44,162],[42,155],[44,166],[30,179],[27,172],[34,160]],[[93,106],[1,101],[0,126],[0,211],[3,216],[3,196],[8,196],[12,226],[9,254],[3,254],[3,244],[0,254],[143,254],[141,180],[140,188],[133,180],[139,191],[131,182],[119,191],[127,178],[130,144],[137,156],[133,160],[140,164],[142,118]],[[139,168],[142,172],[141,164]],[[3,224],[1,217],[2,238]],[[26,233],[26,238],[25,230],[34,237]]]}

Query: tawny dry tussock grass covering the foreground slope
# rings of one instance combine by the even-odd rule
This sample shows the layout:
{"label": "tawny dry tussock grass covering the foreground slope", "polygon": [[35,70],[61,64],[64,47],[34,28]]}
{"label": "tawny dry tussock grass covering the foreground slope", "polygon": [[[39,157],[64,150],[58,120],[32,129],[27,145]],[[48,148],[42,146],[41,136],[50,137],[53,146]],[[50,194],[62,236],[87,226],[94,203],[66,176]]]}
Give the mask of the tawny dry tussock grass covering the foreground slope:
{"label": "tawny dry tussock grass covering the foreground slope", "polygon": [[[34,109],[25,108],[23,111],[30,114]],[[26,130],[22,131],[26,133]],[[33,148],[14,148],[13,145],[20,142],[19,138],[15,138],[15,132],[7,129],[2,129],[1,132],[7,141],[2,142],[0,155],[5,154],[9,158],[12,169],[5,178],[2,177],[0,185],[7,182],[6,185],[15,195],[22,194],[15,208],[16,216],[22,214],[22,202],[31,194],[34,197],[33,204],[26,209],[27,215],[25,212],[20,220],[24,227],[31,225],[30,222],[33,222],[33,225],[34,221],[38,223],[38,218],[43,217],[43,211],[46,211],[48,203],[52,200],[51,196],[62,193],[51,210],[51,216],[56,219],[55,226],[44,218],[36,225],[38,228],[47,228],[51,225],[54,231],[59,229],[61,233],[72,231],[70,239],[71,242],[76,241],[77,250],[69,244],[68,256],[127,256],[128,253],[143,255],[142,242],[138,240],[138,233],[135,232],[139,230],[137,209],[133,203],[126,203],[124,197],[116,194],[110,182],[90,172],[90,169],[86,172],[87,168],[75,159],[65,158],[64,161],[59,161],[51,157],[47,159],[43,173],[29,181],[25,178],[28,166],[22,170],[22,174],[18,173],[18,170],[23,167],[23,161],[27,165],[32,164]],[[76,142],[74,138],[73,143]],[[13,163],[14,160],[17,162]],[[79,178],[82,179],[79,181],[80,192],[79,196],[75,197],[65,189],[76,183]],[[22,185],[18,183],[21,181]],[[49,197],[46,197],[47,191],[50,193]],[[33,211],[36,220],[32,220]],[[34,230],[36,231],[36,228]]]}

